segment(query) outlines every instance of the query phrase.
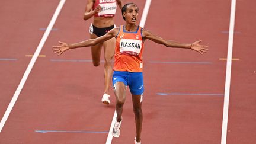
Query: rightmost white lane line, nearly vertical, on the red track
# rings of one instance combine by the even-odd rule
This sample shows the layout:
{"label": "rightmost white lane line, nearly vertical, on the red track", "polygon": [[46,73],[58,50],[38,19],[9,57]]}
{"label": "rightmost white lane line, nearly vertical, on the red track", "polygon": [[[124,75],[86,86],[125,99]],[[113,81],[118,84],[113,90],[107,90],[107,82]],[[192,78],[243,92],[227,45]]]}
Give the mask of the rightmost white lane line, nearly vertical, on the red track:
{"label": "rightmost white lane line, nearly vertical, on the red track", "polygon": [[233,34],[234,34],[234,27],[235,27],[235,6],[236,6],[236,0],[232,0],[231,16],[230,16],[230,23],[229,23],[228,57],[227,57],[227,64],[226,64],[226,81],[225,81],[225,94],[224,94],[224,105],[223,105],[221,144],[226,144],[226,136],[227,136],[227,128],[228,128],[228,107],[229,107],[229,92],[230,92],[230,83],[231,83]]}

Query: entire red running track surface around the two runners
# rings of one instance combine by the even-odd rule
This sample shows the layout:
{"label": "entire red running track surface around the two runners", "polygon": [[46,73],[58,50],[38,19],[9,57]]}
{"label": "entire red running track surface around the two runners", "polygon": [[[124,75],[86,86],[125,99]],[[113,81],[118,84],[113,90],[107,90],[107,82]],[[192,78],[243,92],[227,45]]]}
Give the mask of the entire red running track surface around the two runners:
{"label": "entire red running track surface around the two runners", "polygon": [[[43,36],[57,0],[1,2],[0,116]],[[128,1],[124,1],[128,2]],[[129,1],[130,2],[130,1]],[[143,11],[145,1],[132,1]],[[0,133],[0,143],[105,143],[107,133],[37,133],[35,130],[108,132],[114,113],[112,103],[100,103],[103,65],[91,62],[52,62],[52,59],[91,59],[90,49],[62,56],[52,53],[58,40],[76,42],[89,38],[89,21],[82,20],[86,1],[66,1],[54,28]],[[152,1],[145,28],[166,39],[191,43],[203,39],[209,53],[199,55],[145,42],[145,98],[142,143],[220,143],[223,96],[158,95],[157,93],[224,94],[231,1]],[[255,106],[255,1],[236,2],[227,143],[256,143]],[[120,10],[116,25],[123,24]],[[137,23],[139,24],[139,23]],[[157,62],[211,62],[174,64]],[[135,121],[129,91],[124,105],[121,135],[112,143],[133,143]]]}

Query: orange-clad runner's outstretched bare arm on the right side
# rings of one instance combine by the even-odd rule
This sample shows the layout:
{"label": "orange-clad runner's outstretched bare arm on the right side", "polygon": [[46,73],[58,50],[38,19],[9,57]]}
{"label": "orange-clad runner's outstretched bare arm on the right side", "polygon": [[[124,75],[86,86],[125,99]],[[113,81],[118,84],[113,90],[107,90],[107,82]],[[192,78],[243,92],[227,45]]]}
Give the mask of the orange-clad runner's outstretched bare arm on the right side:
{"label": "orange-clad runner's outstretched bare arm on the right side", "polygon": [[151,31],[143,30],[142,35],[144,40],[149,39],[154,41],[155,43],[163,44],[167,47],[178,47],[178,48],[184,48],[184,49],[192,49],[196,50],[197,52],[203,54],[206,53],[208,49],[206,49],[208,46],[200,45],[199,43],[202,40],[196,41],[194,43],[179,43],[177,41],[172,40],[165,40],[162,37],[156,36],[155,34],[152,34]]}

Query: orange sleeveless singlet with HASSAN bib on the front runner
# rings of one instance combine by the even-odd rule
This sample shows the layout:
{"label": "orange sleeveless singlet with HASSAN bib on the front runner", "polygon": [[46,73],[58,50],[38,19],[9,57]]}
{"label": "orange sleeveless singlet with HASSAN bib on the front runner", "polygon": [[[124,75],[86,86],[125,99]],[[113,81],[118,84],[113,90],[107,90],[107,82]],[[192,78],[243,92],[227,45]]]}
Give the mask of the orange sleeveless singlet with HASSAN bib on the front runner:
{"label": "orange sleeveless singlet with HASSAN bib on the front runner", "polygon": [[121,25],[116,36],[114,71],[142,72],[143,49],[142,27],[138,26],[137,31],[129,32]]}

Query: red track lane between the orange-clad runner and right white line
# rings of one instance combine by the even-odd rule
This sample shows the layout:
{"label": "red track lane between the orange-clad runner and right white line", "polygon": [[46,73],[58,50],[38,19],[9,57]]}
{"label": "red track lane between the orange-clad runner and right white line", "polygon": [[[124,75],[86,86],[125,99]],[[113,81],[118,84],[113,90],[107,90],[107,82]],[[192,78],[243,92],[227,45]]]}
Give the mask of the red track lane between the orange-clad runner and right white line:
{"label": "red track lane between the orange-clad runner and right white line", "polygon": [[[221,31],[228,30],[229,8],[226,1],[152,2],[146,28],[161,37],[181,42],[203,39],[202,44],[209,46],[209,53],[200,56],[189,50],[169,49],[146,41],[148,51],[145,50],[144,60],[212,64],[145,63],[142,137],[146,139],[142,138],[142,142],[220,143],[223,96],[156,93],[224,93],[225,62],[219,57],[226,56],[228,35]],[[154,137],[149,132],[153,132]]]}

